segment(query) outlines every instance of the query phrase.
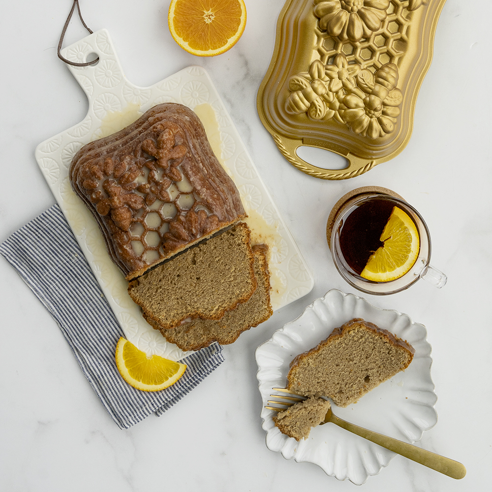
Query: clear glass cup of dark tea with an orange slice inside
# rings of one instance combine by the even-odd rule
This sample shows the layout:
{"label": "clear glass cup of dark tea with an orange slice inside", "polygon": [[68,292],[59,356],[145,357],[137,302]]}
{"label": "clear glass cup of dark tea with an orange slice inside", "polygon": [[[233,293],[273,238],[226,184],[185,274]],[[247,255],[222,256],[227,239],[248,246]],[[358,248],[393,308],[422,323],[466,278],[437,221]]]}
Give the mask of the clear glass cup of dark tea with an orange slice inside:
{"label": "clear glass cup of dark tea with an orange slice inside", "polygon": [[391,190],[369,188],[339,201],[327,240],[338,272],[364,292],[392,294],[420,277],[436,287],[446,282],[429,264],[431,239],[423,218]]}

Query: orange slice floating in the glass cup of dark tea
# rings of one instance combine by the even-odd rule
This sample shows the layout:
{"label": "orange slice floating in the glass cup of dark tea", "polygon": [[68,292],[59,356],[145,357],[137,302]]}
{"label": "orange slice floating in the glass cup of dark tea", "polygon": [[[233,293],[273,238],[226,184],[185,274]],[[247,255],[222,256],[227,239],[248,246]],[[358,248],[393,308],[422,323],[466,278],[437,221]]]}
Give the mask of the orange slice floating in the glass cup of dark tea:
{"label": "orange slice floating in the glass cup of dark tea", "polygon": [[410,216],[394,207],[379,238],[383,243],[369,258],[361,277],[373,282],[389,282],[405,275],[419,255],[417,227]]}

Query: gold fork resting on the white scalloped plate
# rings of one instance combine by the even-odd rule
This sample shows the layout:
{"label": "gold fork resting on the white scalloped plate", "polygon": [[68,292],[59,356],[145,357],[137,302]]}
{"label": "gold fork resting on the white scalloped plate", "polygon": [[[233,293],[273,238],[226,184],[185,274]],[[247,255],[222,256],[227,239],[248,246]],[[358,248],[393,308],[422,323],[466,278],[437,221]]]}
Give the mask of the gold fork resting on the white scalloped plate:
{"label": "gold fork resting on the white scalloped plate", "polygon": [[[269,410],[281,412],[282,410],[286,410],[286,408],[299,401],[306,400],[306,398],[300,395],[295,395],[286,388],[273,388],[273,390],[288,393],[292,396],[270,395],[270,397],[272,398],[278,398],[286,401],[268,400],[268,403],[280,404],[284,406],[284,408],[270,405],[265,406],[265,408],[268,408]],[[417,463],[428,466],[429,468],[432,468],[433,470],[436,470],[440,473],[444,473],[444,475],[447,475],[448,477],[460,479],[466,475],[466,468],[459,461],[450,460],[449,458],[431,453],[431,451],[427,451],[407,442],[403,442],[383,434],[378,434],[377,432],[369,431],[367,429],[364,429],[363,427],[345,422],[344,420],[339,419],[336,415],[334,415],[331,408],[328,410],[328,412],[326,412],[325,420],[321,422],[320,425],[327,424],[328,422],[336,424],[337,426],[347,431],[353,432],[354,434],[369,439],[369,441],[375,442],[383,448],[398,453],[405,458],[417,461]]]}

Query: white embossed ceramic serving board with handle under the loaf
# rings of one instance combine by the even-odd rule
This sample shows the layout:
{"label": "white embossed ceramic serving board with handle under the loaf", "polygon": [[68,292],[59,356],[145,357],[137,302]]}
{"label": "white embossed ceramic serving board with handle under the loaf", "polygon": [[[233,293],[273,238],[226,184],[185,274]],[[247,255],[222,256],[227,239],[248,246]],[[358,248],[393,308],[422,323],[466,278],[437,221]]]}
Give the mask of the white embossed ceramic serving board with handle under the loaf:
{"label": "white embossed ceramic serving board with handle under the loaf", "polygon": [[[101,232],[92,214],[73,192],[68,169],[74,154],[85,144],[114,133],[136,120],[156,104],[177,102],[195,110],[207,110],[213,122],[202,122],[215,154],[236,183],[247,214],[252,239],[262,235],[270,247],[272,307],[277,310],[305,296],[314,280],[276,205],[258,175],[241,137],[227,113],[207,72],[189,66],[151,87],[129,82],[116,55],[109,32],[96,31],[62,50],[74,62],[85,62],[95,53],[94,65],[68,65],[89,99],[89,111],[75,126],[39,144],[36,160],[63,214],[101,286],[125,337],[148,355],[179,360],[186,353],[166,342],[142,317],[127,293],[127,281],[110,260]],[[205,111],[205,113],[207,113]],[[219,139],[217,139],[217,131]],[[211,135],[210,133],[214,133]]]}

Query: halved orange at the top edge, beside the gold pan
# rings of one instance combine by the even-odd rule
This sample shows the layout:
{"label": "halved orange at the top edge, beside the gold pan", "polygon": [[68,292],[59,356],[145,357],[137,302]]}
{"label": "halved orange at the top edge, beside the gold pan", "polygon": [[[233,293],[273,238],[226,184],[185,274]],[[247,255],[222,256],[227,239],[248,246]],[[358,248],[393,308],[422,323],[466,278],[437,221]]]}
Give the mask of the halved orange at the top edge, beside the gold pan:
{"label": "halved orange at the top edge, beside the gold pan", "polygon": [[168,14],[174,40],[199,57],[232,48],[246,26],[243,0],[172,0]]}

